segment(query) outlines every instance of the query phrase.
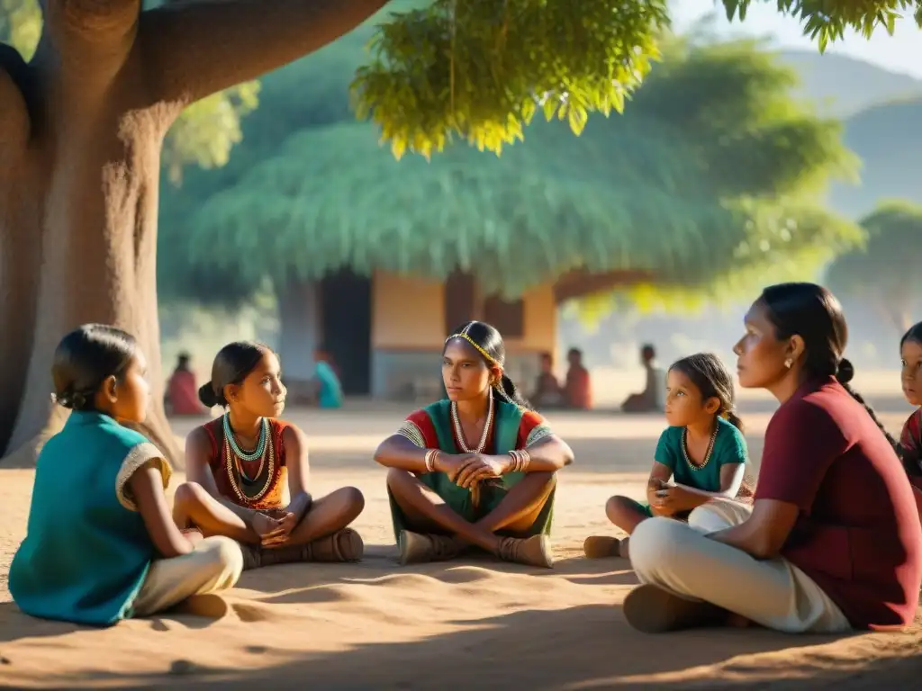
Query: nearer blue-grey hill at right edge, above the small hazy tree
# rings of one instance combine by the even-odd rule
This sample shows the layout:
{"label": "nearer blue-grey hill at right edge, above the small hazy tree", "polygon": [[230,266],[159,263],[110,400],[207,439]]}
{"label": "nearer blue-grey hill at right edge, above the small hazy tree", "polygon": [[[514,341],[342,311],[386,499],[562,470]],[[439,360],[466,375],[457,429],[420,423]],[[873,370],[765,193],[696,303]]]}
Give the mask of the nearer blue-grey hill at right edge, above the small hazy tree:
{"label": "nearer blue-grey hill at right edge, above the small hazy tree", "polygon": [[922,204],[922,95],[876,105],[845,121],[845,145],[862,160],[861,183],[835,185],[833,208],[857,218],[884,199]]}

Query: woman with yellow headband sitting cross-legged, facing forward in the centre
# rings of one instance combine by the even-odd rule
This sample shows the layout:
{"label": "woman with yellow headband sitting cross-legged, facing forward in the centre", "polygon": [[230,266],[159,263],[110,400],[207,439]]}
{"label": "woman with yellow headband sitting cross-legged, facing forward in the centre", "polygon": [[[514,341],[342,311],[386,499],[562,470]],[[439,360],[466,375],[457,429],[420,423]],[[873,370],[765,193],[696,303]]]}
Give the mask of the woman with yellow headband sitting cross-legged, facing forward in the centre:
{"label": "woman with yellow headband sitting cross-legged, facing forward in the centre", "polygon": [[467,322],[445,340],[448,399],[408,416],[381,443],[402,564],[476,546],[550,568],[555,474],[573,451],[550,431],[503,372],[502,336]]}

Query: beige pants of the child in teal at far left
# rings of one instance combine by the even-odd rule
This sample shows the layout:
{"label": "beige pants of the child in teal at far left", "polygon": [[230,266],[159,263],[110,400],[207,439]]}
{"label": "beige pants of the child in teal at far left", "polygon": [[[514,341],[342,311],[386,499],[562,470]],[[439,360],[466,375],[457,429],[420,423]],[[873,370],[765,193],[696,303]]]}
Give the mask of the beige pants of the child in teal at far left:
{"label": "beige pants of the child in teal at far left", "polygon": [[195,551],[150,565],[137,593],[135,615],[147,616],[193,595],[233,588],[243,568],[240,545],[228,537],[208,537]]}

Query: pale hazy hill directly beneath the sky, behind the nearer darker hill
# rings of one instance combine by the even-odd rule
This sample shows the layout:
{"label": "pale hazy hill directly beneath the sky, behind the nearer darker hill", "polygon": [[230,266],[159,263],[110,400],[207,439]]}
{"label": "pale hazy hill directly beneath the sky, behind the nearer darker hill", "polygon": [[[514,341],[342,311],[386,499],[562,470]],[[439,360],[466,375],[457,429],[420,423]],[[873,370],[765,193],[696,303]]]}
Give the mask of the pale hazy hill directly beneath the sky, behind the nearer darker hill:
{"label": "pale hazy hill directly beneath the sky, behind the nearer darker hill", "polygon": [[922,96],[922,80],[834,53],[779,51],[798,71],[801,96],[825,115],[848,118],[891,100]]}

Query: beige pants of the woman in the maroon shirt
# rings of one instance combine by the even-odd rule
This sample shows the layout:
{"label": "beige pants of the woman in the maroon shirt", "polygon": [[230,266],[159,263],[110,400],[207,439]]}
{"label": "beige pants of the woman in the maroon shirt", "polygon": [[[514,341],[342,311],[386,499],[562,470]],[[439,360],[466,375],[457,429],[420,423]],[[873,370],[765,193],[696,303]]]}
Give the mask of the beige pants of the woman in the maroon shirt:
{"label": "beige pants of the woman in the maroon shirt", "polygon": [[838,606],[790,562],[758,560],[705,537],[739,525],[751,511],[735,501],[713,499],[691,511],[688,524],[667,518],[641,522],[631,535],[631,564],[637,577],[778,631],[850,630]]}

